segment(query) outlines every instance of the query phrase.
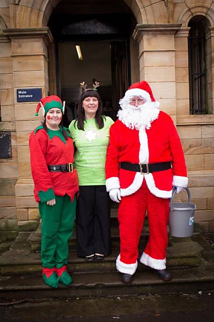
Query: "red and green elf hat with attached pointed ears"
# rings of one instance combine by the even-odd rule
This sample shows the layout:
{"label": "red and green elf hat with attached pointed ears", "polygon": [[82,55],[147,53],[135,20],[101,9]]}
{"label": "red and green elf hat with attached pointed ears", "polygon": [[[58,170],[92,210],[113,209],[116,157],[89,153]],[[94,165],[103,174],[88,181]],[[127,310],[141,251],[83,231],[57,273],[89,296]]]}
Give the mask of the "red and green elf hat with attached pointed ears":
{"label": "red and green elf hat with attached pointed ears", "polygon": [[62,101],[58,96],[56,95],[46,96],[43,99],[41,99],[40,102],[38,103],[35,116],[39,115],[39,109],[41,107],[42,107],[43,116],[45,116],[47,112],[54,107],[61,109],[62,114],[64,114],[65,101],[62,104]]}

